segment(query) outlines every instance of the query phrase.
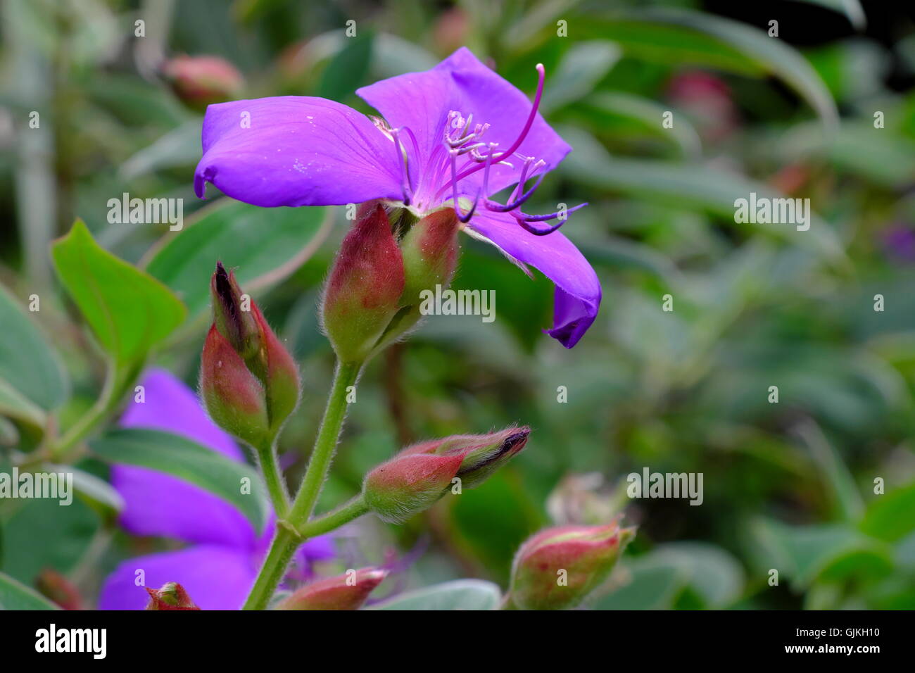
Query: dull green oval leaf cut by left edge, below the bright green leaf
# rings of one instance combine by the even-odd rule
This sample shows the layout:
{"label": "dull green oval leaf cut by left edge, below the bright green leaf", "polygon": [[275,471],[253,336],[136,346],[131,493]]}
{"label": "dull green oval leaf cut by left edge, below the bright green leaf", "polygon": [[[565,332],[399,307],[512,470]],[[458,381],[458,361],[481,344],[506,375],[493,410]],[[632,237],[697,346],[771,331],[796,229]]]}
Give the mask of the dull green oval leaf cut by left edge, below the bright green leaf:
{"label": "dull green oval leaf cut by left edge, below the bright green leaf", "polygon": [[57,353],[2,286],[0,324],[0,379],[15,385],[38,407],[59,407],[67,398],[68,384]]}

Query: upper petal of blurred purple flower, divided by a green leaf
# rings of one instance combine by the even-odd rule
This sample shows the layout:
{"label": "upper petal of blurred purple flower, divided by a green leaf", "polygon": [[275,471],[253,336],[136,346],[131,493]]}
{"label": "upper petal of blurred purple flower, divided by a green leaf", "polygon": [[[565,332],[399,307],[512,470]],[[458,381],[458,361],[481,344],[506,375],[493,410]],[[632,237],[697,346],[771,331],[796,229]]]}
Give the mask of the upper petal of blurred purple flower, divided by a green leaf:
{"label": "upper petal of blurred purple flower, divided by a green leaf", "polygon": [[[145,401],[132,402],[121,418],[126,428],[151,428],[183,435],[235,461],[242,451],[217,428],[187,385],[164,370],[142,381]],[[135,535],[174,537],[252,549],[253,526],[235,507],[198,486],[129,465],[114,465],[111,481],[124,497],[120,522]]]}

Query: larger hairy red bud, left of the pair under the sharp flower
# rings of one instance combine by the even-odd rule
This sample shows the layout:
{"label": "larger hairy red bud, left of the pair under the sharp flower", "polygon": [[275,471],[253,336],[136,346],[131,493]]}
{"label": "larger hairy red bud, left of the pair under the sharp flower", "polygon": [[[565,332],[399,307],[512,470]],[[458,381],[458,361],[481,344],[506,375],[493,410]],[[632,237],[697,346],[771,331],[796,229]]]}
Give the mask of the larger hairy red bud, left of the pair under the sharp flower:
{"label": "larger hairy red bud, left of the pair under the sharp flower", "polygon": [[361,363],[382,341],[404,293],[404,259],[383,206],[361,206],[324,293],[324,329],[340,361]]}

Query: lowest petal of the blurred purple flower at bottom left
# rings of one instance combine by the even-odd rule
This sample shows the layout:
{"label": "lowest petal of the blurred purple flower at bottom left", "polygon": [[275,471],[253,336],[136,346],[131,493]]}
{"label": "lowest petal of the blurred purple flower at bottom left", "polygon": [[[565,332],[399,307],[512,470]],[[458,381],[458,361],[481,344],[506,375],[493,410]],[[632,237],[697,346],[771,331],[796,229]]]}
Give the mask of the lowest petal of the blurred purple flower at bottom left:
{"label": "lowest petal of the blurred purple flower at bottom left", "polygon": [[238,610],[251,590],[257,566],[249,553],[220,545],[199,545],[128,559],[102,586],[100,610],[143,610],[149,596],[136,584],[143,570],[147,587],[177,581],[202,610]]}

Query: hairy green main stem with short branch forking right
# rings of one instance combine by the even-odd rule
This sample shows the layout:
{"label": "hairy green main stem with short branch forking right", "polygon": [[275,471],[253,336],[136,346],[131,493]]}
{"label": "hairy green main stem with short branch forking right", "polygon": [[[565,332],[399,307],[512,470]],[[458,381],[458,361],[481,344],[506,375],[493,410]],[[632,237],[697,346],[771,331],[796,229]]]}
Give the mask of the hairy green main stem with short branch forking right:
{"label": "hairy green main stem with short branch forking right", "polygon": [[277,522],[276,534],[273,542],[270,543],[267,558],[264,559],[264,565],[257,580],[254,581],[254,586],[248,600],[244,602],[242,610],[264,610],[267,607],[271,596],[276,591],[276,586],[285,575],[286,567],[296,552],[296,548],[307,537],[342,526],[366,511],[361,497],[357,497],[336,512],[318,518],[310,525],[307,524],[308,518],[318,502],[321,487],[328,477],[330,462],[333,460],[334,450],[337,448],[343,418],[346,417],[347,388],[356,384],[361,366],[361,363],[337,364],[334,382],[328,396],[328,406],[324,410],[324,418],[321,419],[318,438],[315,440],[315,448],[311,452],[302,485],[298,489],[296,499],[285,516],[285,520],[280,518]]}

